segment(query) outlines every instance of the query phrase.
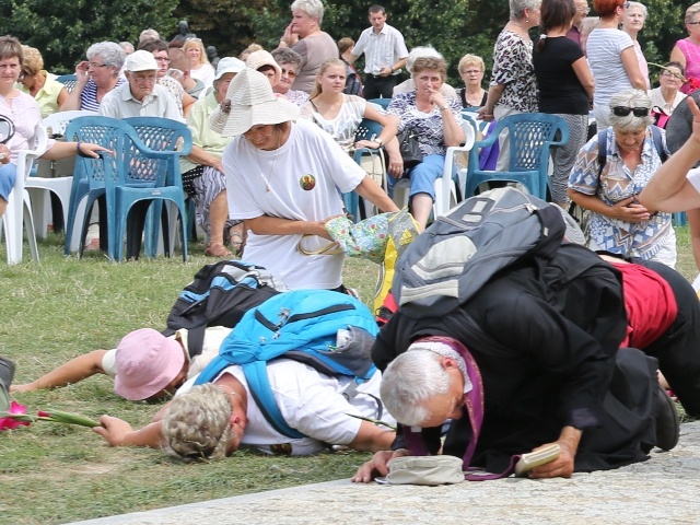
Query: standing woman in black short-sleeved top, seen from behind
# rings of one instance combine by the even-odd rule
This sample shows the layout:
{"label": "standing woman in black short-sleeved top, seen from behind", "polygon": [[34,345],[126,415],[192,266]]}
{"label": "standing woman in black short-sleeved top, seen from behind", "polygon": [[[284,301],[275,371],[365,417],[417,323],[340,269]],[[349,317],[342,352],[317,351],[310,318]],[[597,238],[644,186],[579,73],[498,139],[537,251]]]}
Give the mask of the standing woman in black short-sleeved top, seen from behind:
{"label": "standing woman in black short-sleeved top, seen from behind", "polygon": [[539,110],[556,114],[569,125],[569,142],[553,150],[552,200],[567,208],[567,183],[588,131],[593,73],[581,47],[565,37],[576,12],[571,0],[542,0],[540,28],[533,66],[539,88]]}

